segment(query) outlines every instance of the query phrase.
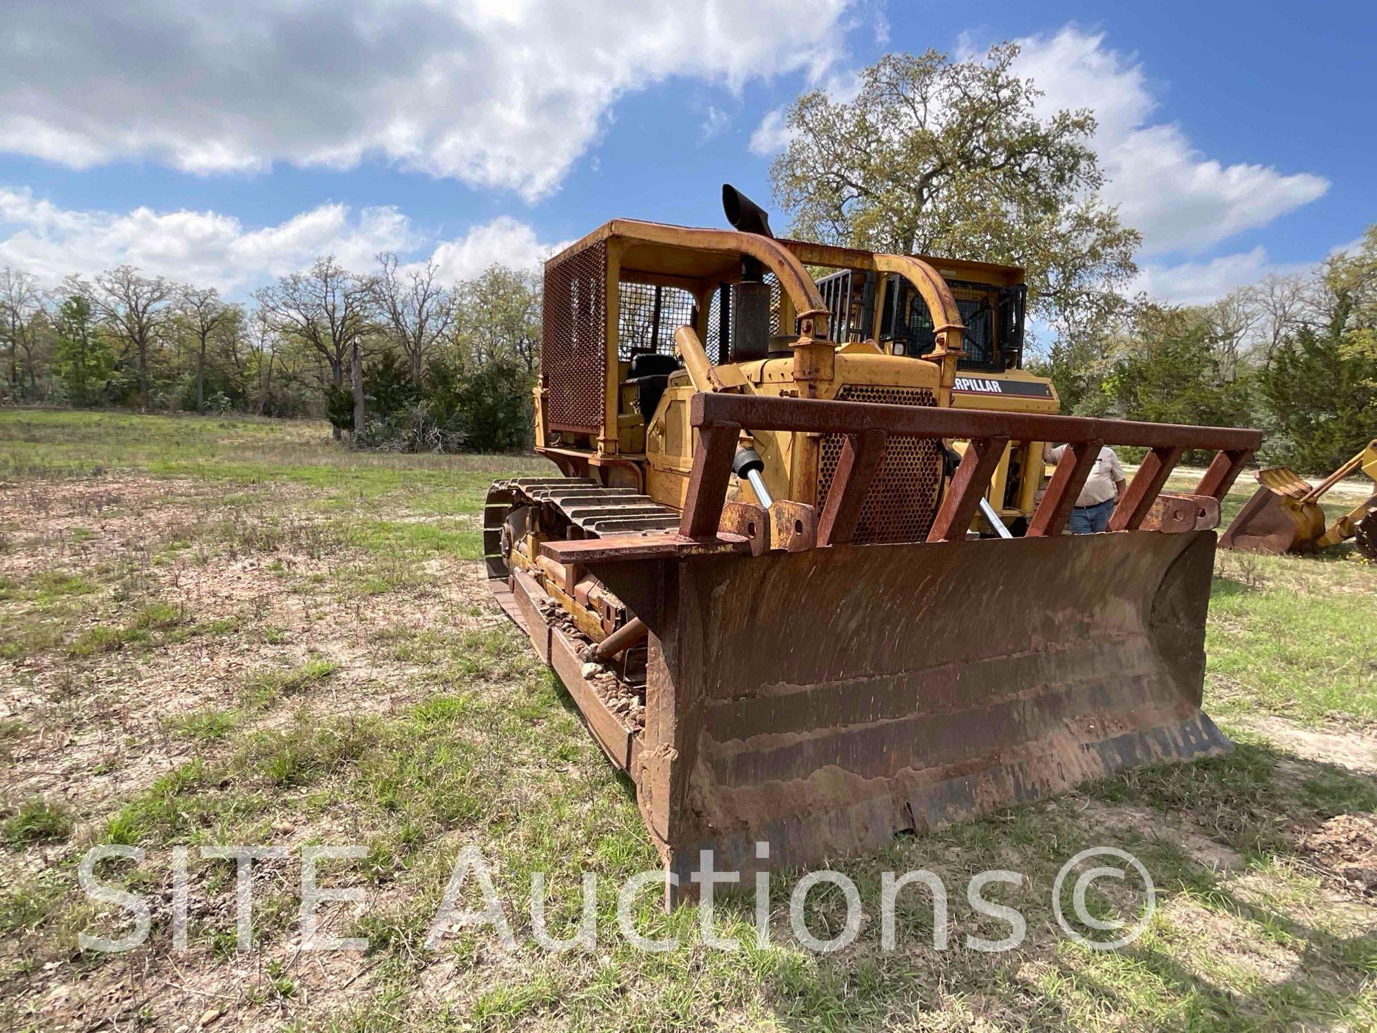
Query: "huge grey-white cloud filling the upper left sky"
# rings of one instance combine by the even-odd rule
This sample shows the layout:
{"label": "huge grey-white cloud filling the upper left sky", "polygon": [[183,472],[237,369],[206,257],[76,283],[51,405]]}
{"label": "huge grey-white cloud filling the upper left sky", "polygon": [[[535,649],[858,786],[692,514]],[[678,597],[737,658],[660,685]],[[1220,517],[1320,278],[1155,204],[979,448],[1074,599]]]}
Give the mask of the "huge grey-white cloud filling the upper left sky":
{"label": "huge grey-white cloud filling the upper left sky", "polygon": [[0,150],[211,174],[377,157],[529,200],[616,99],[822,76],[850,0],[11,0]]}

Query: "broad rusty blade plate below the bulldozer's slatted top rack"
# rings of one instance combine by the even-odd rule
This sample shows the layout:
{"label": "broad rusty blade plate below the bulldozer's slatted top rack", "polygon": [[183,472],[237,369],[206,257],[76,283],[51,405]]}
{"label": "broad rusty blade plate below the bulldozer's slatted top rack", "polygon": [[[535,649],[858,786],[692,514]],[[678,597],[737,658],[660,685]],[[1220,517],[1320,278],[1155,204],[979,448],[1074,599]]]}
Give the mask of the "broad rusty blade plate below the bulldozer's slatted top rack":
{"label": "broad rusty blade plate below the bulldozer's slatted top rack", "polygon": [[[1201,712],[1215,534],[609,565],[650,616],[636,781],[672,872],[885,844],[1230,747]],[[651,599],[658,601],[658,606]]]}

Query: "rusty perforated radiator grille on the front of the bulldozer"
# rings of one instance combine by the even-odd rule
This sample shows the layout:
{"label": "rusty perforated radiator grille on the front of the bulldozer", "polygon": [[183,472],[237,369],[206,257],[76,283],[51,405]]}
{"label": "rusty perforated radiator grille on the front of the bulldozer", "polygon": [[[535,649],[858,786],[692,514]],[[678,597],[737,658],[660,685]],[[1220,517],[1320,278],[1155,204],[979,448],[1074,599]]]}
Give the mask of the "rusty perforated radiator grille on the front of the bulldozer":
{"label": "rusty perforated radiator grille on the front of the bulldozer", "polygon": [[[935,405],[932,393],[921,387],[872,387],[847,384],[837,391],[839,402],[881,402],[887,405]],[[818,508],[828,500],[837,472],[844,434],[825,434],[818,457]],[[932,529],[942,488],[942,450],[931,438],[894,434],[884,446],[880,471],[856,525],[858,545],[894,541],[923,541]]]}

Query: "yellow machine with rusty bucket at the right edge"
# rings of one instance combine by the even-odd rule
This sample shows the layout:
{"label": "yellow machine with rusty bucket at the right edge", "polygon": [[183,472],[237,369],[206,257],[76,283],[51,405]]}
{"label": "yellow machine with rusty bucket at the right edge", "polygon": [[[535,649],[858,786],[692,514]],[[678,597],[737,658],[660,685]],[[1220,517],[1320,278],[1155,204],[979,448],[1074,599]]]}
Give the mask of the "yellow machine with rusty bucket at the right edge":
{"label": "yellow machine with rusty bucket at the right edge", "polygon": [[1355,472],[1363,472],[1377,482],[1377,439],[1370,441],[1314,488],[1290,467],[1259,470],[1260,488],[1224,529],[1220,545],[1241,552],[1281,555],[1319,552],[1354,539],[1359,552],[1377,559],[1377,490],[1325,528],[1325,511],[1319,500]]}

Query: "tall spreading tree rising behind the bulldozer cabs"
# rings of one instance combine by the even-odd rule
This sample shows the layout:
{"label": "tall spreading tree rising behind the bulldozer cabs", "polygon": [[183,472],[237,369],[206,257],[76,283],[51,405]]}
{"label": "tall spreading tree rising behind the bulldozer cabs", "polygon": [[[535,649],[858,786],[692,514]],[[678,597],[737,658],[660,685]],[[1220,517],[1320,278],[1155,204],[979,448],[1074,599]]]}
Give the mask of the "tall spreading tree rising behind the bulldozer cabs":
{"label": "tall spreading tree rising behind the bulldozer cabs", "polygon": [[1099,200],[1089,109],[1040,117],[1018,52],[890,54],[851,101],[801,95],[771,179],[799,236],[1022,266],[1033,311],[1070,336],[1118,310],[1142,237]]}

